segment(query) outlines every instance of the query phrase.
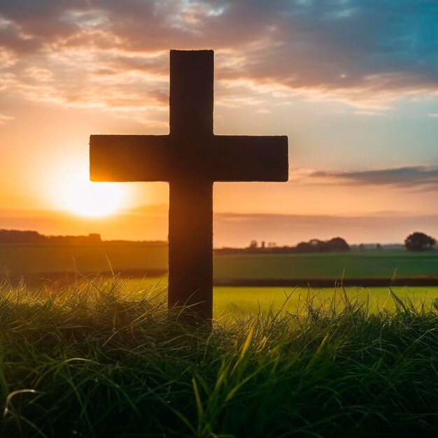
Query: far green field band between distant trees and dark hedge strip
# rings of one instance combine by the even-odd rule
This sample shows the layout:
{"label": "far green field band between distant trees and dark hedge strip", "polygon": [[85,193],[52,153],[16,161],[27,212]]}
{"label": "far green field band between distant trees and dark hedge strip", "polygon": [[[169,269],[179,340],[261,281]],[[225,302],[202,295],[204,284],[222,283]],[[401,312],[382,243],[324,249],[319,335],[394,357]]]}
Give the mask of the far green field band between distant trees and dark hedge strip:
{"label": "far green field band between distant trees and dark hedge strip", "polygon": [[[167,269],[167,246],[110,243],[85,246],[0,245],[0,268],[11,276],[54,272],[119,271],[153,274]],[[348,253],[216,255],[216,281],[314,278],[438,277],[438,251],[365,250]]]}

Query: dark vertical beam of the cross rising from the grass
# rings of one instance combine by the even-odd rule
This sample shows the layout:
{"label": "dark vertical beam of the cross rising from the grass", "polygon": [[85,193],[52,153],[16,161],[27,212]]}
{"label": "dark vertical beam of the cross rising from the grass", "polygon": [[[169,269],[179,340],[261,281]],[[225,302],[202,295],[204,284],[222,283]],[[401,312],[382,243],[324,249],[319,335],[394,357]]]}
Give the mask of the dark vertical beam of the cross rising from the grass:
{"label": "dark vertical beam of the cross rising from the grass", "polygon": [[171,50],[169,100],[182,170],[169,181],[169,309],[189,306],[189,317],[211,320],[213,181],[200,158],[213,137],[213,50]]}

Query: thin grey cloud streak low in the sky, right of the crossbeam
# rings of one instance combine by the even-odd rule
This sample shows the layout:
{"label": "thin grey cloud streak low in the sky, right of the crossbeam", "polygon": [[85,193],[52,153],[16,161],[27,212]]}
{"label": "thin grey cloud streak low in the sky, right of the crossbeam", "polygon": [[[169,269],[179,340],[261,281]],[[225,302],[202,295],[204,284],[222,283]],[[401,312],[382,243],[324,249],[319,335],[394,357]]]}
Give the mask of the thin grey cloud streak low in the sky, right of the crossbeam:
{"label": "thin grey cloud streak low in the sky, right of the crossbeam", "polygon": [[320,183],[353,183],[355,185],[393,185],[400,188],[438,188],[438,167],[406,166],[351,172],[314,171],[309,174]]}

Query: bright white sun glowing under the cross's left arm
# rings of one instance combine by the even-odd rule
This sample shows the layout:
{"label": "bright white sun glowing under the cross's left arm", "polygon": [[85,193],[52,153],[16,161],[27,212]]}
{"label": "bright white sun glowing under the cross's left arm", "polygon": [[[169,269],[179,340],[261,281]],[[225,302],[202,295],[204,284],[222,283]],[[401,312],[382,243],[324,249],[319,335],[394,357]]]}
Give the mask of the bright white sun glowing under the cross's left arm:
{"label": "bright white sun glowing under the cross's left arm", "polygon": [[63,204],[79,216],[109,216],[120,208],[124,192],[118,183],[93,183],[86,171],[69,178],[64,188]]}

